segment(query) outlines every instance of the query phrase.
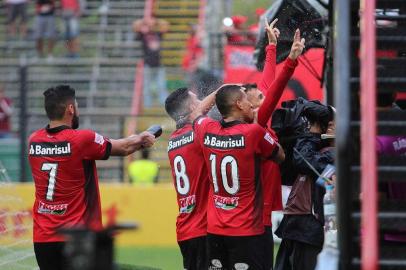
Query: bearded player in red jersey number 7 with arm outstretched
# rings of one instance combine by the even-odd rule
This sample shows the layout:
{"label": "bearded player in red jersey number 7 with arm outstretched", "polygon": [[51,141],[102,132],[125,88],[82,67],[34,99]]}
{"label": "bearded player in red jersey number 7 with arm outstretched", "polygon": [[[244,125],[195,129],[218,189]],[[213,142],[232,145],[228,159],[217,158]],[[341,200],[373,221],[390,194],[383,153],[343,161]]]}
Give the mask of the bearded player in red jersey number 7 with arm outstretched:
{"label": "bearded player in red jersey number 7 with arm outstretched", "polygon": [[79,111],[75,90],[68,85],[44,92],[49,124],[31,134],[29,162],[35,183],[34,251],[41,270],[67,265],[62,249],[63,227],[101,229],[101,207],[95,160],[129,155],[151,147],[149,132],[112,140],[92,131],[76,130]]}

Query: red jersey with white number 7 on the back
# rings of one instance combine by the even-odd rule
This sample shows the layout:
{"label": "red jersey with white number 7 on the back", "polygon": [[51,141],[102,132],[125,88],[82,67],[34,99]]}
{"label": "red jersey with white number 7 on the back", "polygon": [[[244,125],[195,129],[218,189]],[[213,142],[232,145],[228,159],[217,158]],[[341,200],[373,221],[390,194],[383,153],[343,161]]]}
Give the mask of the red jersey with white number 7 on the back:
{"label": "red jersey with white number 7 on the back", "polygon": [[63,241],[56,232],[62,227],[102,227],[95,160],[110,151],[110,141],[91,130],[47,127],[30,136],[34,242]]}

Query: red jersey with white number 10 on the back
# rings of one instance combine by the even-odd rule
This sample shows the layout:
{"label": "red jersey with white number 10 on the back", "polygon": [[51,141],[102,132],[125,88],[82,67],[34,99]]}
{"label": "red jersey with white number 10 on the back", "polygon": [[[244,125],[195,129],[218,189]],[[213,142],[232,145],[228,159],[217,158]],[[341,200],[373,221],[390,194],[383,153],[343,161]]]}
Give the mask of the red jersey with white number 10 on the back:
{"label": "red jersey with white number 10 on the back", "polygon": [[212,182],[207,231],[227,236],[262,234],[261,162],[277,154],[277,143],[257,124],[199,118],[193,128]]}

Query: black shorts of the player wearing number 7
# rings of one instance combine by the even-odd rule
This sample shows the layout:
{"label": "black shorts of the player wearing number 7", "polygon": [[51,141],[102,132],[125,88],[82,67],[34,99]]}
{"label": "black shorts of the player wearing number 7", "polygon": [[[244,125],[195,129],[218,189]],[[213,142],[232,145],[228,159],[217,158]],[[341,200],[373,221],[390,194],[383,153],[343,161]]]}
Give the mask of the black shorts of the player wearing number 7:
{"label": "black shorts of the player wearing number 7", "polygon": [[65,270],[64,242],[34,243],[35,257],[40,270]]}

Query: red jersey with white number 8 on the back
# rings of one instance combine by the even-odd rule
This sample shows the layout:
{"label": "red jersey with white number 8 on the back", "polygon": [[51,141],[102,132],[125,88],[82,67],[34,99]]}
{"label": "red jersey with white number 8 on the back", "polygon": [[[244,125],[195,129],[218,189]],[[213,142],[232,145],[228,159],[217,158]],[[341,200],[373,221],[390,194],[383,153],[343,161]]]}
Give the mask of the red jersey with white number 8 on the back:
{"label": "red jersey with white number 8 on the back", "polygon": [[175,130],[168,142],[168,157],[176,189],[178,241],[207,234],[207,196],[210,182],[202,149],[191,124]]}

